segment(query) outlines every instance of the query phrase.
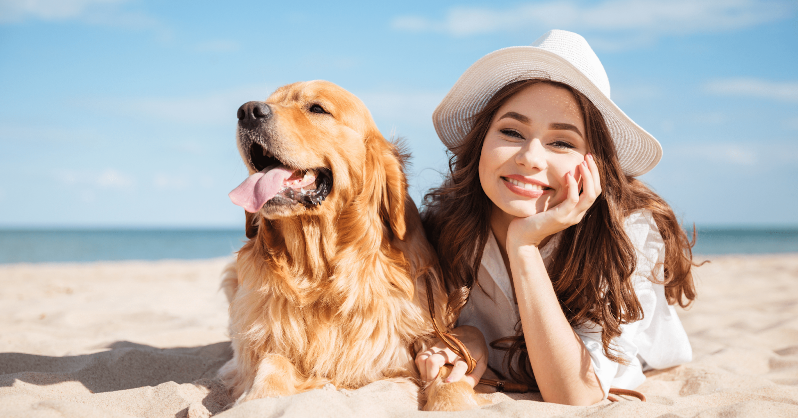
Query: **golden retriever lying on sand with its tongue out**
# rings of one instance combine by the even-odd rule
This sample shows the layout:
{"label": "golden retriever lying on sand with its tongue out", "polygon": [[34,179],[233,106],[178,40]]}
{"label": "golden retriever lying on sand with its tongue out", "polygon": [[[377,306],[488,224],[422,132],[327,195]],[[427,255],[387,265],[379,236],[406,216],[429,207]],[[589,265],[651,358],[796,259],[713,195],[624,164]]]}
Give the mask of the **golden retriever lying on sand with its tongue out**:
{"label": "golden retriever lying on sand with its tongue out", "polygon": [[[414,353],[433,338],[424,281],[433,280],[436,301],[444,297],[407,194],[405,157],[357,97],[328,81],[283,86],[238,117],[250,177],[231,199],[247,211],[250,240],[222,284],[235,354],[219,374],[231,395],[243,402],[379,380],[418,392]],[[487,401],[439,377],[419,402],[457,410]]]}

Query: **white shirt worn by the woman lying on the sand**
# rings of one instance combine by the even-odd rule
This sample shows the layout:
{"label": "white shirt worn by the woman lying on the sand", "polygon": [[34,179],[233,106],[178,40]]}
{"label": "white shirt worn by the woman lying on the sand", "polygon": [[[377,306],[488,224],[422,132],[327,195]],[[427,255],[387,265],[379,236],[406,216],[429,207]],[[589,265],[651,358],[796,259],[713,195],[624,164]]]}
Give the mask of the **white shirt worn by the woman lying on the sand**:
{"label": "white shirt worn by the woman lying on the sand", "polygon": [[[622,333],[614,340],[614,347],[629,365],[619,365],[606,358],[601,341],[601,327],[593,322],[575,328],[590,352],[593,369],[599,377],[604,397],[614,388],[637,388],[646,376],[643,370],[666,369],[689,362],[693,350],[681,321],[665,298],[663,262],[665,243],[659,235],[657,223],[650,211],[637,211],[626,218],[624,230],[637,250],[637,269],[632,274],[634,291],[642,306],[643,319],[621,325]],[[562,233],[551,237],[540,250],[543,262],[548,266],[552,254],[559,246]],[[473,325],[480,329],[488,344],[501,337],[518,335],[518,305],[513,298],[512,282],[504,267],[499,247],[492,233],[482,254],[478,280],[468,303],[460,313],[458,325]],[[488,365],[508,375],[505,369],[506,351],[488,345]]]}

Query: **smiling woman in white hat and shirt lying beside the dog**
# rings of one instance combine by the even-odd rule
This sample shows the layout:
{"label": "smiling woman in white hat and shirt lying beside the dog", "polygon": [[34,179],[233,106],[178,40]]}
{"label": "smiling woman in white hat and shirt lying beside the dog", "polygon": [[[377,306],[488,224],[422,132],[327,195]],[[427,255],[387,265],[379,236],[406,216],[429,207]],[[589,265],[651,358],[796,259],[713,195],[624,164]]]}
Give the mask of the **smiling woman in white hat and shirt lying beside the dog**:
{"label": "smiling woman in white hat and shirt lying beside the dog", "polygon": [[[593,404],[690,361],[673,305],[695,297],[691,244],[634,179],[662,148],[610,101],[583,37],[552,30],[486,55],[433,121],[452,158],[425,228],[478,363],[469,382],[489,366],[543,400]],[[417,356],[428,381],[446,363],[448,381],[464,375],[442,344]]]}

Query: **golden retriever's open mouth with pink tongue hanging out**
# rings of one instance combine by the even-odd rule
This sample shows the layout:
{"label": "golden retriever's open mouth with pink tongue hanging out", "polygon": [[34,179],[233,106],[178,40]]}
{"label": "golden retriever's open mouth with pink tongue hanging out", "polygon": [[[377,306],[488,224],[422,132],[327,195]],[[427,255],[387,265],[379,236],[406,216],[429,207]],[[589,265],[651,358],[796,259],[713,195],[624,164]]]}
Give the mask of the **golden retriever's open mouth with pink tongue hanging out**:
{"label": "golden retriever's open mouth with pink tongue hanging out", "polygon": [[258,172],[230,192],[233,203],[248,212],[267,204],[317,207],[330,194],[332,175],[326,168],[290,168],[258,143],[251,145],[249,156]]}

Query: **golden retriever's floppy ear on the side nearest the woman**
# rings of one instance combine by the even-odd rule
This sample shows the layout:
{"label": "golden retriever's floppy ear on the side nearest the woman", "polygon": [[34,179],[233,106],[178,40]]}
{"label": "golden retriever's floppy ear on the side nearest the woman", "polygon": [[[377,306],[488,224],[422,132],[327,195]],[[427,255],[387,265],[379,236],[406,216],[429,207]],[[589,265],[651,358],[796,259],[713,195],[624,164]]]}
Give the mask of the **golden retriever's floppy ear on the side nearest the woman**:
{"label": "golden retriever's floppy ear on the side nearest the woman", "polygon": [[382,193],[380,215],[391,227],[393,235],[404,240],[407,231],[405,223],[407,180],[401,156],[393,146],[385,147],[382,160],[385,168],[385,188]]}

